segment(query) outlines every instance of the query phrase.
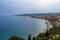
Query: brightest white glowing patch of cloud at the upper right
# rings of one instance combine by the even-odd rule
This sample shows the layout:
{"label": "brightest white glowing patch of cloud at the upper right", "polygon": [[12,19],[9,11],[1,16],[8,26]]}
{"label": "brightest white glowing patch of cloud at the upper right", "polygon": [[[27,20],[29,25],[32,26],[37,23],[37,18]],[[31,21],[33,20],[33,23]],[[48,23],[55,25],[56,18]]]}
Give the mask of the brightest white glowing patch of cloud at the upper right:
{"label": "brightest white glowing patch of cloud at the upper right", "polygon": [[41,6],[48,6],[48,5],[56,4],[59,2],[60,0],[37,0],[36,4],[41,5]]}

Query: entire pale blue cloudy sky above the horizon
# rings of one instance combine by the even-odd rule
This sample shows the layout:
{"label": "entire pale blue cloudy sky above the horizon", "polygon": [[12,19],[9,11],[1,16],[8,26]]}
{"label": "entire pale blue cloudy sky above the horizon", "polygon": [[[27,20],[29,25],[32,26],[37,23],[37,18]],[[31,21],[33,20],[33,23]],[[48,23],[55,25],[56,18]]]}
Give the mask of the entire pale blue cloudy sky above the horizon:
{"label": "entire pale blue cloudy sky above the horizon", "polygon": [[0,15],[50,12],[60,12],[60,0],[0,0]]}

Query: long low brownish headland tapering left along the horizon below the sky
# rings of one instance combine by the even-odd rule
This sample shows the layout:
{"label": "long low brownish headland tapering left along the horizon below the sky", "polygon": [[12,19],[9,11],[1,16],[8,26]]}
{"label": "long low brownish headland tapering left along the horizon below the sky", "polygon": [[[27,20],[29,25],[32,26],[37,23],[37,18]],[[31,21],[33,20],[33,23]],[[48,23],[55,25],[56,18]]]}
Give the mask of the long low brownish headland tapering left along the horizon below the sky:
{"label": "long low brownish headland tapering left along the horizon below the sky", "polygon": [[55,19],[60,18],[60,13],[31,13],[31,14],[19,14],[17,16],[28,16],[38,19]]}

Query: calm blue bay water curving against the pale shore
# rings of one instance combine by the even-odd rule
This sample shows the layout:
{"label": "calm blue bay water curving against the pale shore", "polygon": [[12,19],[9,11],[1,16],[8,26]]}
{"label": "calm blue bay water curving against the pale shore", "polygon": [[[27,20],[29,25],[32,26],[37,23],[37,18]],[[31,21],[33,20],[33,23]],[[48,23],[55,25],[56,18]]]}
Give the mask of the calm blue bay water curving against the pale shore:
{"label": "calm blue bay water curving against the pale shore", "polygon": [[45,21],[23,16],[0,16],[0,40],[8,40],[12,35],[27,39],[44,32]]}

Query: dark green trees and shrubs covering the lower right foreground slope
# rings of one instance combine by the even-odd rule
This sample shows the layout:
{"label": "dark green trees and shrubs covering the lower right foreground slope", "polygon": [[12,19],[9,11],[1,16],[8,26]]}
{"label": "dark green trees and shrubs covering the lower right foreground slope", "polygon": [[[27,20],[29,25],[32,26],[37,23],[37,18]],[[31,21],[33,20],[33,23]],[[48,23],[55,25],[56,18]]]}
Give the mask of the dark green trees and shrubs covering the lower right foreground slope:
{"label": "dark green trees and shrubs covering the lower right foreground slope", "polygon": [[40,33],[36,40],[60,40],[60,26],[51,28],[48,33]]}

